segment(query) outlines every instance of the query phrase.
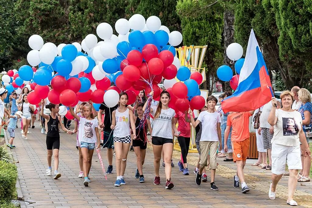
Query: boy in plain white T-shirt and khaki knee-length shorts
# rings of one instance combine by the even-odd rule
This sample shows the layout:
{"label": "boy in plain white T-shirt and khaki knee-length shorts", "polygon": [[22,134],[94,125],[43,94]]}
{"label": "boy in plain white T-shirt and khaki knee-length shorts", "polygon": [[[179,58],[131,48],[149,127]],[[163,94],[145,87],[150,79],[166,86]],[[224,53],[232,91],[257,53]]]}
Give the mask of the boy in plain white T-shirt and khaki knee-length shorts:
{"label": "boy in plain white T-shirt and khaki knee-length shorts", "polygon": [[[217,169],[217,150],[218,142],[221,144],[221,117],[220,113],[215,111],[215,106],[217,104],[217,98],[214,96],[209,96],[207,98],[207,111],[202,111],[197,120],[194,121],[193,112],[191,109],[188,113],[191,116],[192,126],[195,128],[200,122],[202,123],[202,135],[200,137],[200,161],[199,161],[199,171],[196,173],[196,184],[200,185],[202,182],[202,171],[207,166],[208,154],[210,154],[209,169],[211,170],[211,189],[219,190],[219,188],[214,183],[214,178]],[[221,146],[219,151],[221,150]]]}

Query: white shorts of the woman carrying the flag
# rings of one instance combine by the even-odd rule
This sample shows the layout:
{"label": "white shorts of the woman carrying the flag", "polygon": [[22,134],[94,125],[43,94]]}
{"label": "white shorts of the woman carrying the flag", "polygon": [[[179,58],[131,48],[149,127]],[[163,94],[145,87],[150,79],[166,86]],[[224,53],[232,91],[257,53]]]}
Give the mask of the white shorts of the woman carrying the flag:
{"label": "white shorts of the woman carrying the flag", "polygon": [[289,170],[301,170],[301,150],[300,146],[285,146],[272,144],[272,170],[276,175],[285,173],[286,162]]}

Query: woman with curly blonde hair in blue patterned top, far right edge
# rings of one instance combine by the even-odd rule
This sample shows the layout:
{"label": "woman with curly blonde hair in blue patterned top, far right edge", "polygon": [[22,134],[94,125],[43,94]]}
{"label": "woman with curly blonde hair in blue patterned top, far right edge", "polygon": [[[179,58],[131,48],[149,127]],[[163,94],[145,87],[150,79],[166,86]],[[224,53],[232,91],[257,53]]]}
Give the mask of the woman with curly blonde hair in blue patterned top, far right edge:
{"label": "woman with curly blonde hair in blue patterned top, far right edge", "polygon": [[[298,112],[301,114],[303,131],[309,145],[309,137],[312,137],[312,103],[309,90],[301,88],[298,91],[298,99],[302,103]],[[301,174],[299,173],[298,182],[310,182],[311,157],[301,155],[301,162],[302,170],[300,171]]]}

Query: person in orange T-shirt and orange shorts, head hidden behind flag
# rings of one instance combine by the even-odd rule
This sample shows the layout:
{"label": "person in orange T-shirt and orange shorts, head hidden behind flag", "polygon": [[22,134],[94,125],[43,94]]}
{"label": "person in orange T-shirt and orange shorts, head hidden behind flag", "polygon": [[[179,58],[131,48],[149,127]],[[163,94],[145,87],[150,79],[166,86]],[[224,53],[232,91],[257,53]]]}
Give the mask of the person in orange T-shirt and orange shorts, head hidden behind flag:
{"label": "person in orange T-shirt and orange shorts, head hidden behind flag", "polygon": [[[249,139],[249,117],[254,111],[246,112],[230,112],[227,116],[227,128],[224,132],[224,144],[227,144],[227,137],[232,126],[232,149],[233,161],[236,163],[237,172],[233,177],[234,188],[239,188],[239,181],[241,181],[241,192],[246,193],[250,191],[244,178],[244,167],[248,157],[248,149],[250,145]],[[224,145],[224,151],[227,152],[227,145]]]}

